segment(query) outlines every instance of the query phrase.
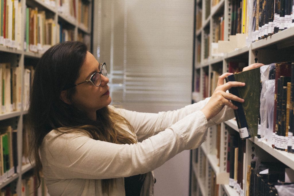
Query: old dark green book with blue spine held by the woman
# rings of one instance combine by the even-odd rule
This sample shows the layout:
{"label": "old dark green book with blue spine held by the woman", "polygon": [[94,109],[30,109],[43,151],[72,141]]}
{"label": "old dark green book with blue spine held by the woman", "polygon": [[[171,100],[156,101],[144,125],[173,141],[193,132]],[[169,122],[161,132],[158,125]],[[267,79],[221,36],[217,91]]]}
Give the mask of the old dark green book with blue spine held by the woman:
{"label": "old dark green book with blue spine held by the woman", "polygon": [[258,117],[260,107],[260,68],[254,68],[248,71],[235,73],[225,78],[229,81],[244,82],[244,87],[233,87],[229,92],[243,98],[243,103],[232,101],[238,106],[234,110],[237,125],[241,138],[251,138],[257,136]]}

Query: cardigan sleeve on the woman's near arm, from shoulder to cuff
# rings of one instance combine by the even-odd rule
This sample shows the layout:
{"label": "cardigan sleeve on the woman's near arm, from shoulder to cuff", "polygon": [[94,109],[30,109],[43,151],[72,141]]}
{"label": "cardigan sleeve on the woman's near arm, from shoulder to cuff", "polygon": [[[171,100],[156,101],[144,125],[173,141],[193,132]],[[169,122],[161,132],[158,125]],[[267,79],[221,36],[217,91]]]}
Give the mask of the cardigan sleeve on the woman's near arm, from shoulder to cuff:
{"label": "cardigan sleeve on the woman's near arm, from shoulder to cuff", "polygon": [[206,139],[207,120],[197,111],[136,144],[114,144],[73,131],[48,133],[41,146],[44,175],[51,179],[107,179],[146,173]]}

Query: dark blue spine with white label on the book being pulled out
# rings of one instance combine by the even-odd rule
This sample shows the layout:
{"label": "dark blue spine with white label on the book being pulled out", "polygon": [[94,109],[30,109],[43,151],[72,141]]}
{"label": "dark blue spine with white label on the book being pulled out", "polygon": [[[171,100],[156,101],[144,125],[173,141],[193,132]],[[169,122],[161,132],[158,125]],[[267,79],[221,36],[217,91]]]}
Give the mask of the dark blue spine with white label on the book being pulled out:
{"label": "dark blue spine with white label on the book being pulled out", "polygon": [[[225,81],[226,82],[235,81],[234,75],[230,75],[230,77],[226,77]],[[237,97],[240,97],[238,89],[236,87],[230,88],[229,92]],[[237,110],[234,110],[234,113],[235,113],[238,129],[239,129],[240,138],[245,138],[245,139],[251,138],[251,135],[249,135],[249,132],[248,132],[248,124],[246,122],[245,113],[244,113],[242,104],[238,101],[233,101],[233,100],[232,100],[232,103],[238,107]]]}

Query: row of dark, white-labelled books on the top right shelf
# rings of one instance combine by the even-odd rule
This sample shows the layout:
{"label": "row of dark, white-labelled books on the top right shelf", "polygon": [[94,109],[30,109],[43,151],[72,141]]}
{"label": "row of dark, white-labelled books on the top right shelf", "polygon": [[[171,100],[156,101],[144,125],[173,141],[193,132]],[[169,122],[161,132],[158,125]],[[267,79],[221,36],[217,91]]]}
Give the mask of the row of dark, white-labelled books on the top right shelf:
{"label": "row of dark, white-labelled books on the top right shelf", "polygon": [[254,0],[253,40],[266,38],[294,26],[293,0]]}

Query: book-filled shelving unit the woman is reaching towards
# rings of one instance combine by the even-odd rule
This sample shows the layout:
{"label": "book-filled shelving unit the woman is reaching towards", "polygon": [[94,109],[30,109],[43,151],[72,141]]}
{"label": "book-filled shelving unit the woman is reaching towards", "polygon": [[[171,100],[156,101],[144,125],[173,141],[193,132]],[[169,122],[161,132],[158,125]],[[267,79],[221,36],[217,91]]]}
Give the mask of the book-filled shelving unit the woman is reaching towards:
{"label": "book-filled shelving unit the woman is reaching towards", "polygon": [[236,119],[208,129],[206,142],[191,150],[191,195],[278,195],[292,186],[293,14],[293,1],[195,1],[192,102],[211,96],[221,74],[252,63],[271,65],[266,81],[276,91],[260,101],[274,115],[256,136],[241,139]]}

